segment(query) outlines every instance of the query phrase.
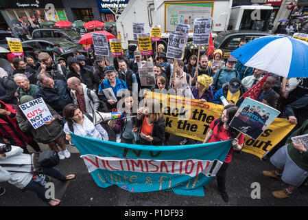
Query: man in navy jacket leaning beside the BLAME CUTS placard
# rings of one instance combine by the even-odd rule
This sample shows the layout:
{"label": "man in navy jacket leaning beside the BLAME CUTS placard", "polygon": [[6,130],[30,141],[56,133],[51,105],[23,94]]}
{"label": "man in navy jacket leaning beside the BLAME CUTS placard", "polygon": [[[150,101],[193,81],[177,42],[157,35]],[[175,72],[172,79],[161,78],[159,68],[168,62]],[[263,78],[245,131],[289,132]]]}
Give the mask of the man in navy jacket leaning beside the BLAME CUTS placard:
{"label": "man in navy jacket leaning beside the BLAME CUTS placard", "polygon": [[36,89],[36,98],[42,97],[46,104],[60,115],[60,124],[64,126],[63,109],[67,104],[72,103],[67,83],[62,80],[53,80],[47,73],[39,74],[38,81],[40,85]]}

